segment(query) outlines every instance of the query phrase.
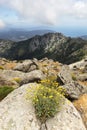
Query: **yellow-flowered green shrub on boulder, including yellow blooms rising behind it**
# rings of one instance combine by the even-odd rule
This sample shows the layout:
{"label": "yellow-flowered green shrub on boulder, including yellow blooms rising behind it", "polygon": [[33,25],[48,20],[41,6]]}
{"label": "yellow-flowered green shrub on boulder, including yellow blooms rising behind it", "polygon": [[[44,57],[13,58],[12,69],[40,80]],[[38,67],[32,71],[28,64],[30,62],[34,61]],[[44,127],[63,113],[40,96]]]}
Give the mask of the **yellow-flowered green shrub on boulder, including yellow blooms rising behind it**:
{"label": "yellow-flowered green shrub on boulder, including yellow blooms rising behind it", "polygon": [[64,103],[65,90],[51,79],[45,79],[36,86],[36,89],[27,91],[27,99],[32,99],[36,116],[44,123],[60,111]]}

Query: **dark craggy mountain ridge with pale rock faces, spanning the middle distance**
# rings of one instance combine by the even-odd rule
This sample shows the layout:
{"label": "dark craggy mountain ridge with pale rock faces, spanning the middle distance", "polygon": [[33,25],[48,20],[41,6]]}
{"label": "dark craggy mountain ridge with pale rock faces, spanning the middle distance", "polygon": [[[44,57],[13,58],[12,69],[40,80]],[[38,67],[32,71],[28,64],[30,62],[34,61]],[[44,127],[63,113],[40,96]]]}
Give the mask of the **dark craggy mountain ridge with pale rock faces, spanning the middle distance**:
{"label": "dark craggy mountain ridge with pale rock faces, spanning the middle distance", "polygon": [[23,60],[48,57],[65,64],[81,60],[87,55],[87,41],[66,37],[61,33],[47,33],[25,41],[0,41],[0,56]]}

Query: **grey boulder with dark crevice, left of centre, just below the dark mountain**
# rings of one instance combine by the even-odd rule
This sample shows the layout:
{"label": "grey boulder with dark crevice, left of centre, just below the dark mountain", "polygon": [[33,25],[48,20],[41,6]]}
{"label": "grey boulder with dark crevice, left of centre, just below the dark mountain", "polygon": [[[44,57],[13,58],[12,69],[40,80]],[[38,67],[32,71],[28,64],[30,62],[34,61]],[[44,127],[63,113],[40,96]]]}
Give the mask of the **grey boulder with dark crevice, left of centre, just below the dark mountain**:
{"label": "grey boulder with dark crevice, left of centre, just below the dark mountain", "polygon": [[18,63],[14,70],[22,71],[22,72],[30,72],[38,69],[38,62],[36,60],[25,60],[23,63]]}

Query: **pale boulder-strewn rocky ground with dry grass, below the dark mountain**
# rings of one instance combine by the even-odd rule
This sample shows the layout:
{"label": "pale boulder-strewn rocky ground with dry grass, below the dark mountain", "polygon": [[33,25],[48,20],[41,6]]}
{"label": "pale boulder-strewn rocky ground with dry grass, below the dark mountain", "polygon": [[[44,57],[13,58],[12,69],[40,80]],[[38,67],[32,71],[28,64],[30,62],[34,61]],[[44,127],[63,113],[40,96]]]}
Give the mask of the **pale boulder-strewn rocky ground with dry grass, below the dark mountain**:
{"label": "pale boulder-strewn rocky ground with dry grass, below the dark mountain", "polygon": [[[55,77],[66,89],[61,111],[44,124],[35,116],[27,88],[47,76]],[[86,130],[87,129],[87,59],[63,65],[51,59],[9,61],[0,59],[0,87],[15,90],[0,102],[0,130]]]}

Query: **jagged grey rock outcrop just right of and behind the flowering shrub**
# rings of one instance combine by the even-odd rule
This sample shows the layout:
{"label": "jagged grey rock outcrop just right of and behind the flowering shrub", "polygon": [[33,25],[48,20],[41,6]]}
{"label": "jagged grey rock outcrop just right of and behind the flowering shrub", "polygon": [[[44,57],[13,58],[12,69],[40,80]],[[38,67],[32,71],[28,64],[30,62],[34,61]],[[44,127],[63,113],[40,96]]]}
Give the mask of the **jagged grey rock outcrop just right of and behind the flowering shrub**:
{"label": "jagged grey rock outcrop just right of and behind the flowering shrub", "polygon": [[69,99],[78,99],[80,95],[87,92],[87,87],[74,81],[71,76],[71,70],[69,66],[64,65],[58,74],[58,81],[65,88]]}

